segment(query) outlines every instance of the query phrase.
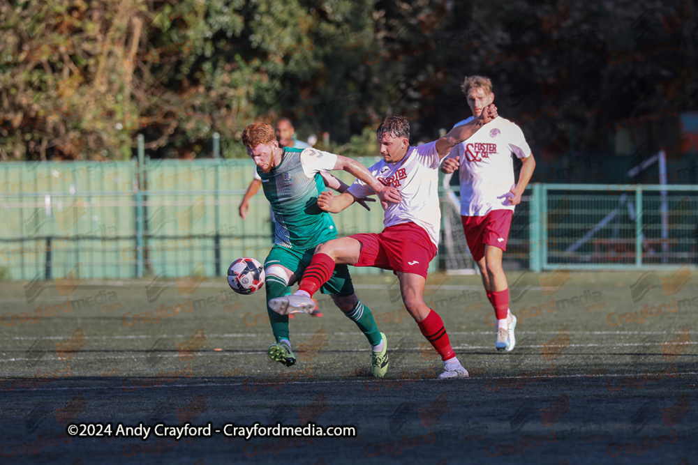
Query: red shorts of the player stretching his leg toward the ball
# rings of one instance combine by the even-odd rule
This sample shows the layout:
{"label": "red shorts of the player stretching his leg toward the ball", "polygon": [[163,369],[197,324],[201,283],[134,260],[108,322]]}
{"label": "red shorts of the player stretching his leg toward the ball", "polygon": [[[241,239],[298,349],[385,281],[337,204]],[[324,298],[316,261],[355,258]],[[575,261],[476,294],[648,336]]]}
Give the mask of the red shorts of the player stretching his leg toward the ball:
{"label": "red shorts of the player stretching his leg toward the ball", "polygon": [[380,234],[353,234],[361,243],[359,261],[354,266],[374,266],[384,270],[415,273],[426,279],[429,262],[436,257],[436,245],[429,234],[413,222],[396,224]]}

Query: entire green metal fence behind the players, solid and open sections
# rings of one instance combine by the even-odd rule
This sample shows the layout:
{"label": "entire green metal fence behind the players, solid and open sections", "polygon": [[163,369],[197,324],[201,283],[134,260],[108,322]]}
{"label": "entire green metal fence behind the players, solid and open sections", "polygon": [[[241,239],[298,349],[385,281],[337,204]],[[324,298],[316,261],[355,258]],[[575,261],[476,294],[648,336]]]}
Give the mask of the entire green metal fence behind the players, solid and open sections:
{"label": "entire green metal fence behind the players, solid and open sections", "polygon": [[[237,257],[266,257],[266,199],[253,197],[247,220],[238,214],[250,160],[147,160],[142,153],[141,160],[0,164],[0,279],[214,276]],[[695,265],[697,194],[696,185],[533,184],[514,214],[505,266]],[[449,211],[442,197],[442,235],[450,236],[431,271],[472,268],[458,208]],[[352,206],[334,215],[339,234],[382,230],[383,210],[372,205],[371,212]]]}

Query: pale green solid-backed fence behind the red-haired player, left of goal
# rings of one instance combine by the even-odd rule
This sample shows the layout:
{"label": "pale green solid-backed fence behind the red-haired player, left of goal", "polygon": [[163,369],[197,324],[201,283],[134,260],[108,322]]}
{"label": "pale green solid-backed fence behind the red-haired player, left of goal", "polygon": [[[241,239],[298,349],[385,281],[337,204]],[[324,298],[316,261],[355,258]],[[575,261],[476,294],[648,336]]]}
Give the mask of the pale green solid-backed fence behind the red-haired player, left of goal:
{"label": "pale green solid-backed fence behind the red-haired player, left of goal", "polygon": [[[0,277],[214,276],[237,257],[263,261],[268,202],[260,192],[246,220],[238,213],[253,169],[251,160],[226,159],[2,163]],[[334,215],[339,234],[383,229],[373,206]]]}

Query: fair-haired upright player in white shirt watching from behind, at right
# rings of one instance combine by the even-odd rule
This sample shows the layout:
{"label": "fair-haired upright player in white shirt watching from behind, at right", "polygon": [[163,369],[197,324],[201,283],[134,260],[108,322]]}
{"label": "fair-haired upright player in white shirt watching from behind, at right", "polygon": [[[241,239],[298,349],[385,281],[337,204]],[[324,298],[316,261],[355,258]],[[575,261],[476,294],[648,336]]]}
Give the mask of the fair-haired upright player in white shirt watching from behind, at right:
{"label": "fair-haired upright player in white shirt watching from behind, at right", "polygon": [[[466,77],[461,89],[473,117],[457,123],[456,128],[480,116],[494,101],[488,77]],[[523,164],[518,183],[514,183],[512,155]],[[523,190],[535,169],[533,153],[519,126],[498,118],[484,125],[468,142],[453,148],[441,171],[452,173],[456,169],[461,181],[461,220],[466,241],[497,317],[495,347],[512,351],[517,319],[509,310],[509,284],[502,269],[502,254],[507,250],[514,206],[521,203]]]}

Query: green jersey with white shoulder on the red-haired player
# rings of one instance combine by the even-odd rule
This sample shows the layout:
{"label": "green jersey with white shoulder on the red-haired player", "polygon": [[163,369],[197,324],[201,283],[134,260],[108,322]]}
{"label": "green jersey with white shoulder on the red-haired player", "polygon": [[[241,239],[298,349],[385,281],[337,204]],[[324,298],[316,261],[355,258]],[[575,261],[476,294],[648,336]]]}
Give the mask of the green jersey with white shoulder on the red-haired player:
{"label": "green jersey with white shoulder on the red-haired player", "polygon": [[276,218],[276,245],[306,249],[336,238],[332,216],[318,207],[318,195],[325,190],[320,171],[332,169],[335,162],[332,153],[285,147],[278,167],[269,173],[257,169]]}

